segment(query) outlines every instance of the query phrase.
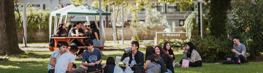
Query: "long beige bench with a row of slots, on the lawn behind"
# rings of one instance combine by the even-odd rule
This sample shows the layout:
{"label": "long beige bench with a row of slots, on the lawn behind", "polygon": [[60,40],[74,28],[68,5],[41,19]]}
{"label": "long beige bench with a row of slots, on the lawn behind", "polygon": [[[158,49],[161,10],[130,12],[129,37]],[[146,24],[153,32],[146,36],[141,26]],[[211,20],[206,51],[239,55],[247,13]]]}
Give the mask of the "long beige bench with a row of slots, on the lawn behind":
{"label": "long beige bench with a row of slots, on the lawn behind", "polygon": [[154,38],[154,44],[158,45],[160,39],[182,39],[186,40],[186,32],[156,32]]}

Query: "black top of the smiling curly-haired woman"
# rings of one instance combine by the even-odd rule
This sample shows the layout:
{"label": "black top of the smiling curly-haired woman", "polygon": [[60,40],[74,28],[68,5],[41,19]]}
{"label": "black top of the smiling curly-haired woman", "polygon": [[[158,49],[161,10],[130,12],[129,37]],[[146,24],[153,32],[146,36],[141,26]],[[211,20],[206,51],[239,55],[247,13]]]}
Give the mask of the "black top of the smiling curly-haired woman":
{"label": "black top of the smiling curly-haired woman", "polygon": [[171,70],[172,73],[174,73],[174,67],[173,67],[172,59],[169,58],[168,55],[165,55],[165,54],[162,54],[161,58],[162,58],[163,62],[165,63],[166,68]]}

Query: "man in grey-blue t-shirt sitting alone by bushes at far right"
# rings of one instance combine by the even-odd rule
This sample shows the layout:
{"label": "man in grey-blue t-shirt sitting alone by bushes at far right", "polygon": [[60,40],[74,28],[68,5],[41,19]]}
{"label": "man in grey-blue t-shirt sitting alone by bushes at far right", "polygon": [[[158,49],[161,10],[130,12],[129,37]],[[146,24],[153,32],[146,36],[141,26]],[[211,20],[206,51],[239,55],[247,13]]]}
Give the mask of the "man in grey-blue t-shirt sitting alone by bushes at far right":
{"label": "man in grey-blue t-shirt sitting alone by bushes at far right", "polygon": [[233,41],[234,41],[234,45],[233,45],[234,49],[231,49],[231,51],[236,53],[236,57],[225,55],[225,59],[231,58],[231,60],[238,61],[238,58],[240,58],[241,63],[246,63],[247,62],[246,46],[240,43],[238,36],[234,36]]}

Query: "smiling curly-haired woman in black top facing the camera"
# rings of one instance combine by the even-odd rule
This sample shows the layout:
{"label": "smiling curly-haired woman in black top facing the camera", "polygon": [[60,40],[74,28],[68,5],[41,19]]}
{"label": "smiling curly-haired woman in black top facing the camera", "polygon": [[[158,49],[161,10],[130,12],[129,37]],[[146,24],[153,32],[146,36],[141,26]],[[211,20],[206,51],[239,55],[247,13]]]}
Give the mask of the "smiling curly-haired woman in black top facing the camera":
{"label": "smiling curly-haired woman in black top facing the camera", "polygon": [[155,53],[161,56],[163,62],[165,63],[168,73],[174,73],[174,67],[173,67],[174,59],[172,58],[172,56],[167,55],[166,51],[159,45],[155,46],[154,49],[155,49]]}

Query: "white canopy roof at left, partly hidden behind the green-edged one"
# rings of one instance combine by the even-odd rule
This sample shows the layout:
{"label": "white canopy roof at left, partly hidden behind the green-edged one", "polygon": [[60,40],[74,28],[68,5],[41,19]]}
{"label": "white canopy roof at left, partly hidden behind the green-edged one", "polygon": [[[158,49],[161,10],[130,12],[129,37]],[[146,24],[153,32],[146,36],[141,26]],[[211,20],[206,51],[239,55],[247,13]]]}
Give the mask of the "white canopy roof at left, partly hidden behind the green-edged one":
{"label": "white canopy roof at left, partly hidden behind the green-edged one", "polygon": [[74,8],[76,8],[77,6],[75,6],[75,5],[69,5],[69,6],[66,6],[66,7],[63,7],[63,8],[60,8],[60,9],[58,9],[58,10],[56,10],[56,11],[53,11],[53,12],[51,12],[50,13],[50,15],[51,16],[56,16],[56,15],[60,15],[60,13],[63,13],[63,12],[65,12],[65,11],[68,11],[68,10],[70,10],[70,9],[74,9]]}

